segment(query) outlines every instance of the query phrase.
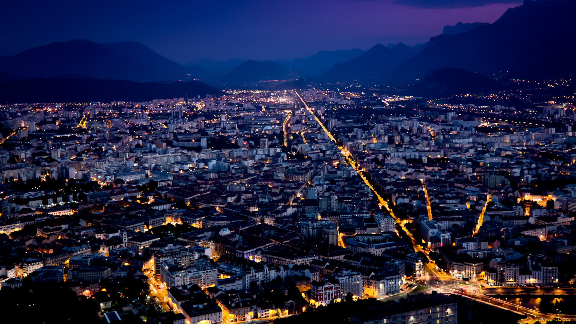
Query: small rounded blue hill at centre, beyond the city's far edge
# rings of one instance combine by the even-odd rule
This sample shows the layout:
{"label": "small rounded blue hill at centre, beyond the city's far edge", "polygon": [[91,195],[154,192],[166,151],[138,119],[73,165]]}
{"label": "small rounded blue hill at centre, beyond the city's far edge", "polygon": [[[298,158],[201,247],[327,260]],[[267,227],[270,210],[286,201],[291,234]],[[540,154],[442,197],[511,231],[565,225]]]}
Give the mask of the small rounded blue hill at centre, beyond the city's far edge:
{"label": "small rounded blue hill at centre, beyond the city's far edge", "polygon": [[272,61],[248,60],[222,77],[222,82],[241,83],[263,80],[285,80],[290,76],[290,68]]}

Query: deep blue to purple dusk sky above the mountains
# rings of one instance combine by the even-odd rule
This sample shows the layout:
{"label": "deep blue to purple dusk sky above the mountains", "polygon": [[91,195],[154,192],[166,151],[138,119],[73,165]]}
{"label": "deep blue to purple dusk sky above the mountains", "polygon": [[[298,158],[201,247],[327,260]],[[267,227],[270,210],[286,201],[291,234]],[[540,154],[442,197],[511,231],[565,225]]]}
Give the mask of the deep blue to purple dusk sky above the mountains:
{"label": "deep blue to purple dusk sky above the mountains", "polygon": [[134,40],[179,63],[205,57],[292,59],[319,50],[367,50],[376,43],[425,43],[444,25],[494,22],[521,4],[498,2],[2,1],[0,52],[85,38]]}

